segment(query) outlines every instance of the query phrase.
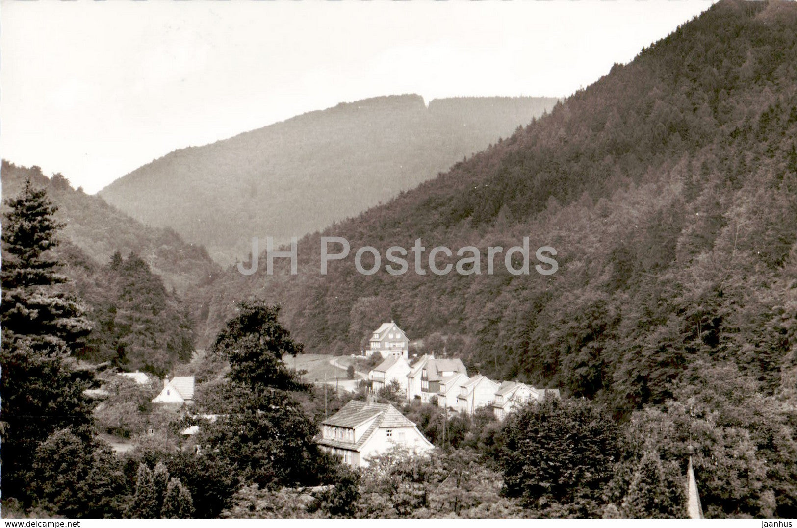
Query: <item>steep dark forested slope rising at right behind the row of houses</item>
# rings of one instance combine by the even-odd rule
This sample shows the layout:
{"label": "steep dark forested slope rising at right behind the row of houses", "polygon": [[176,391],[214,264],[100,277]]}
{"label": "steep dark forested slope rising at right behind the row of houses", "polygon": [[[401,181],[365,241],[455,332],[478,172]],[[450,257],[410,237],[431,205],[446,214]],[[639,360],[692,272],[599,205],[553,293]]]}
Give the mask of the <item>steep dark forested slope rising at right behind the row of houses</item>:
{"label": "steep dark forested slope rising at right behind the row of houses", "polygon": [[200,324],[262,295],[311,350],[359,350],[390,317],[414,338],[465,336],[485,374],[618,408],[664,401],[706,358],[793,393],[795,29],[793,4],[720,2],[551,115],[321,233],[352,255],[421,237],[483,259],[529,236],[559,252],[553,276],[363,276],[351,256],[320,276],[315,234],[298,276],[228,273]]}

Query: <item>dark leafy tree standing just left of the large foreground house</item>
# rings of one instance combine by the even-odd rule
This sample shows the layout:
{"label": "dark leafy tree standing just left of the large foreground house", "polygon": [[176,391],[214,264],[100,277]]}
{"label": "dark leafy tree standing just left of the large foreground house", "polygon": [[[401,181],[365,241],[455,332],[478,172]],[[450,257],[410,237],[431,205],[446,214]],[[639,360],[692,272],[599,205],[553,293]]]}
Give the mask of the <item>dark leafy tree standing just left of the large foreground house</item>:
{"label": "dark leafy tree standing just left of the large foreground house", "polygon": [[316,445],[316,424],[288,392],[307,389],[282,362],[302,346],[278,315],[278,307],[243,302],[218,334],[213,352],[230,362],[230,372],[208,399],[216,402],[211,410],[226,417],[203,428],[198,443],[214,446],[246,483],[320,483],[329,478],[332,460]]}

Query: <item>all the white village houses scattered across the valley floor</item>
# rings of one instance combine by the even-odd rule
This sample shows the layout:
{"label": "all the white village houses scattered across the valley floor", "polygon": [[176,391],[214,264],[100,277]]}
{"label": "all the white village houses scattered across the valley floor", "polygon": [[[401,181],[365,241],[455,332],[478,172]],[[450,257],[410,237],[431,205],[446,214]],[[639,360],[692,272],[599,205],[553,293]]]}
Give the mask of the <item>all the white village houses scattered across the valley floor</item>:
{"label": "all the white village houses scattered across the valley floor", "polygon": [[[352,467],[366,467],[371,457],[394,448],[406,448],[418,454],[434,448],[434,444],[418,430],[417,424],[402,414],[402,409],[427,405],[442,409],[446,420],[471,417],[481,411],[501,421],[520,405],[559,397],[558,389],[536,389],[521,381],[493,381],[482,374],[469,373],[456,354],[436,358],[434,351],[430,350],[420,357],[418,354],[410,357],[410,339],[394,321],[383,323],[374,330],[367,348],[359,354],[340,358],[306,355],[306,361],[301,361],[304,358],[298,356],[285,358],[285,363],[296,370],[297,360],[302,365],[321,362],[324,366],[332,366],[337,374],[341,370],[341,362],[347,362],[347,374],[354,374],[353,380],[344,379],[342,373],[340,379],[337,375],[328,375],[324,381],[319,381],[317,377],[309,380],[323,387],[320,390],[323,390],[325,400],[347,400],[336,412],[328,416],[324,414],[317,442],[322,449],[340,456],[344,463]],[[188,373],[193,368],[207,365],[208,360],[206,352],[199,350],[194,354],[193,362],[188,366],[179,366],[179,369]],[[367,373],[359,370],[374,364]],[[218,374],[224,374],[224,371]],[[308,377],[307,370],[298,370],[297,374]],[[197,412],[194,406],[196,375],[174,375],[159,380],[143,372],[119,372],[115,375],[100,375],[100,378],[108,382],[100,388],[84,390],[87,397],[100,402],[96,407],[100,419],[109,412],[118,413],[115,407],[116,394],[128,391],[155,394],[149,401],[140,401],[138,417],[128,416],[126,420],[124,417],[113,417],[108,421],[104,437],[117,452],[127,452],[141,444],[142,440],[146,444],[147,441],[168,439],[170,424],[178,422],[185,427],[179,427],[179,436],[172,435],[171,440],[167,441],[198,453],[203,448],[212,448],[191,440],[202,424],[214,423],[222,416],[214,413],[214,409]],[[202,381],[210,380],[203,377]],[[127,390],[121,387],[127,387]],[[110,401],[106,403],[106,400]],[[325,407],[328,407],[327,404],[328,401],[325,401]],[[115,427],[123,423],[138,423],[139,426]],[[120,432],[121,435],[118,434]]]}

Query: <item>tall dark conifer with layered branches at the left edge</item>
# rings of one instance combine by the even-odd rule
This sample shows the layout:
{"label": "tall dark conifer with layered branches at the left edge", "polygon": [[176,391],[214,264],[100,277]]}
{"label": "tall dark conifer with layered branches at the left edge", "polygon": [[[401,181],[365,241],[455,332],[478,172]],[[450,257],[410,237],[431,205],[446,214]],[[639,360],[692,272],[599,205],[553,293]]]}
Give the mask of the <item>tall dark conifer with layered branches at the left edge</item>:
{"label": "tall dark conifer with layered branches at the left edge", "polygon": [[26,183],[7,200],[2,230],[3,495],[28,500],[27,476],[37,445],[72,427],[88,440],[91,406],[82,391],[92,374],[69,353],[90,327],[50,251],[62,225],[44,190]]}

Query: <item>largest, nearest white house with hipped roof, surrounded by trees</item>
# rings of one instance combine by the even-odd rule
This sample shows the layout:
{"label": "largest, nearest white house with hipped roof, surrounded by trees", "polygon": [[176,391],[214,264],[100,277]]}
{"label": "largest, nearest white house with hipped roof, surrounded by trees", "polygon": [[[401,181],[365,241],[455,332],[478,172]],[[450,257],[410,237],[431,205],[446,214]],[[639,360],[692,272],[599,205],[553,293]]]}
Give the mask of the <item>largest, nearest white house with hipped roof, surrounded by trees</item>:
{"label": "largest, nearest white house with hipped roof, surrounded by trees", "polygon": [[434,448],[393,405],[353,400],[321,423],[318,444],[353,467],[367,466],[369,457],[396,445],[411,452]]}

